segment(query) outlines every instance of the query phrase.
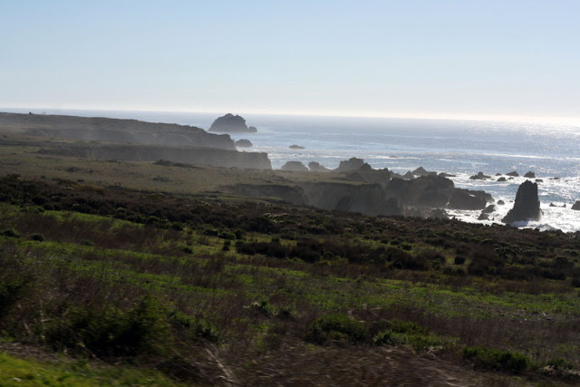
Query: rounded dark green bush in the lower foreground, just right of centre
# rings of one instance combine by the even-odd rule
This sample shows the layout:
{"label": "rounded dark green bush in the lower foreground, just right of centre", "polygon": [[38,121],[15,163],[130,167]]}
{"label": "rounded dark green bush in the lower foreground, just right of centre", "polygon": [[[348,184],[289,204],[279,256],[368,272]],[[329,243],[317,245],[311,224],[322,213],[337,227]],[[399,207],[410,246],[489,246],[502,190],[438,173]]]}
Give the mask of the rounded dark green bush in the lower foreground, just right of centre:
{"label": "rounded dark green bush in the lower foreground, just right of centre", "polygon": [[327,314],[310,327],[308,339],[314,343],[346,341],[362,343],[368,339],[366,326],[346,314]]}

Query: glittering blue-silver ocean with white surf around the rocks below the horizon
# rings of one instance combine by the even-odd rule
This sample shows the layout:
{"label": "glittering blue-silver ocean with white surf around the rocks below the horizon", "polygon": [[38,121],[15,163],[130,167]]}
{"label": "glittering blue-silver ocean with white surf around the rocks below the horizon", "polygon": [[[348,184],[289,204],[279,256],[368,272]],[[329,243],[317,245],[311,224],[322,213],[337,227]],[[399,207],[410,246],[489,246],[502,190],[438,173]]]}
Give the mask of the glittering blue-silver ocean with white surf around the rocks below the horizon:
{"label": "glittering blue-silver ocean with white surf around the rocks below the horizon", "polygon": [[[24,110],[4,110],[27,112]],[[33,111],[42,113],[44,111]],[[131,118],[170,122],[208,129],[217,113],[161,111],[77,111],[46,110],[47,114],[70,114]],[[482,189],[505,206],[497,206],[487,221],[479,221],[480,211],[451,211],[449,215],[467,222],[499,222],[512,208],[517,187],[525,178],[495,181],[496,174],[517,170],[523,176],[533,171],[538,180],[544,213],[537,222],[518,227],[580,230],[580,211],[572,210],[580,199],[580,125],[530,122],[459,121],[423,119],[338,118],[242,114],[257,133],[231,135],[247,139],[253,148],[244,151],[267,152],[275,169],[286,161],[308,164],[320,162],[338,167],[341,160],[357,157],[374,169],[388,168],[405,173],[423,167],[456,175],[456,187]],[[304,150],[291,150],[299,145]],[[479,171],[493,180],[473,180]],[[532,179],[535,181],[536,179]],[[557,207],[550,207],[550,203]],[[565,208],[564,208],[565,206]]]}

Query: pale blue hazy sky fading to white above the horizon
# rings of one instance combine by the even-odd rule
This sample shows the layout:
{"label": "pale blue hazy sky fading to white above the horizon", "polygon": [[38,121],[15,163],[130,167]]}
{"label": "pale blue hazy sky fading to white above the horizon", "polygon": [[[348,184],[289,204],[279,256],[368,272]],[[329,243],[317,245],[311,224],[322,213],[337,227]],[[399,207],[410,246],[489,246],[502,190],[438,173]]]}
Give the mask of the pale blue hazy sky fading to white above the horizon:
{"label": "pale blue hazy sky fading to white above the horizon", "polygon": [[580,117],[580,0],[0,0],[0,107]]}

